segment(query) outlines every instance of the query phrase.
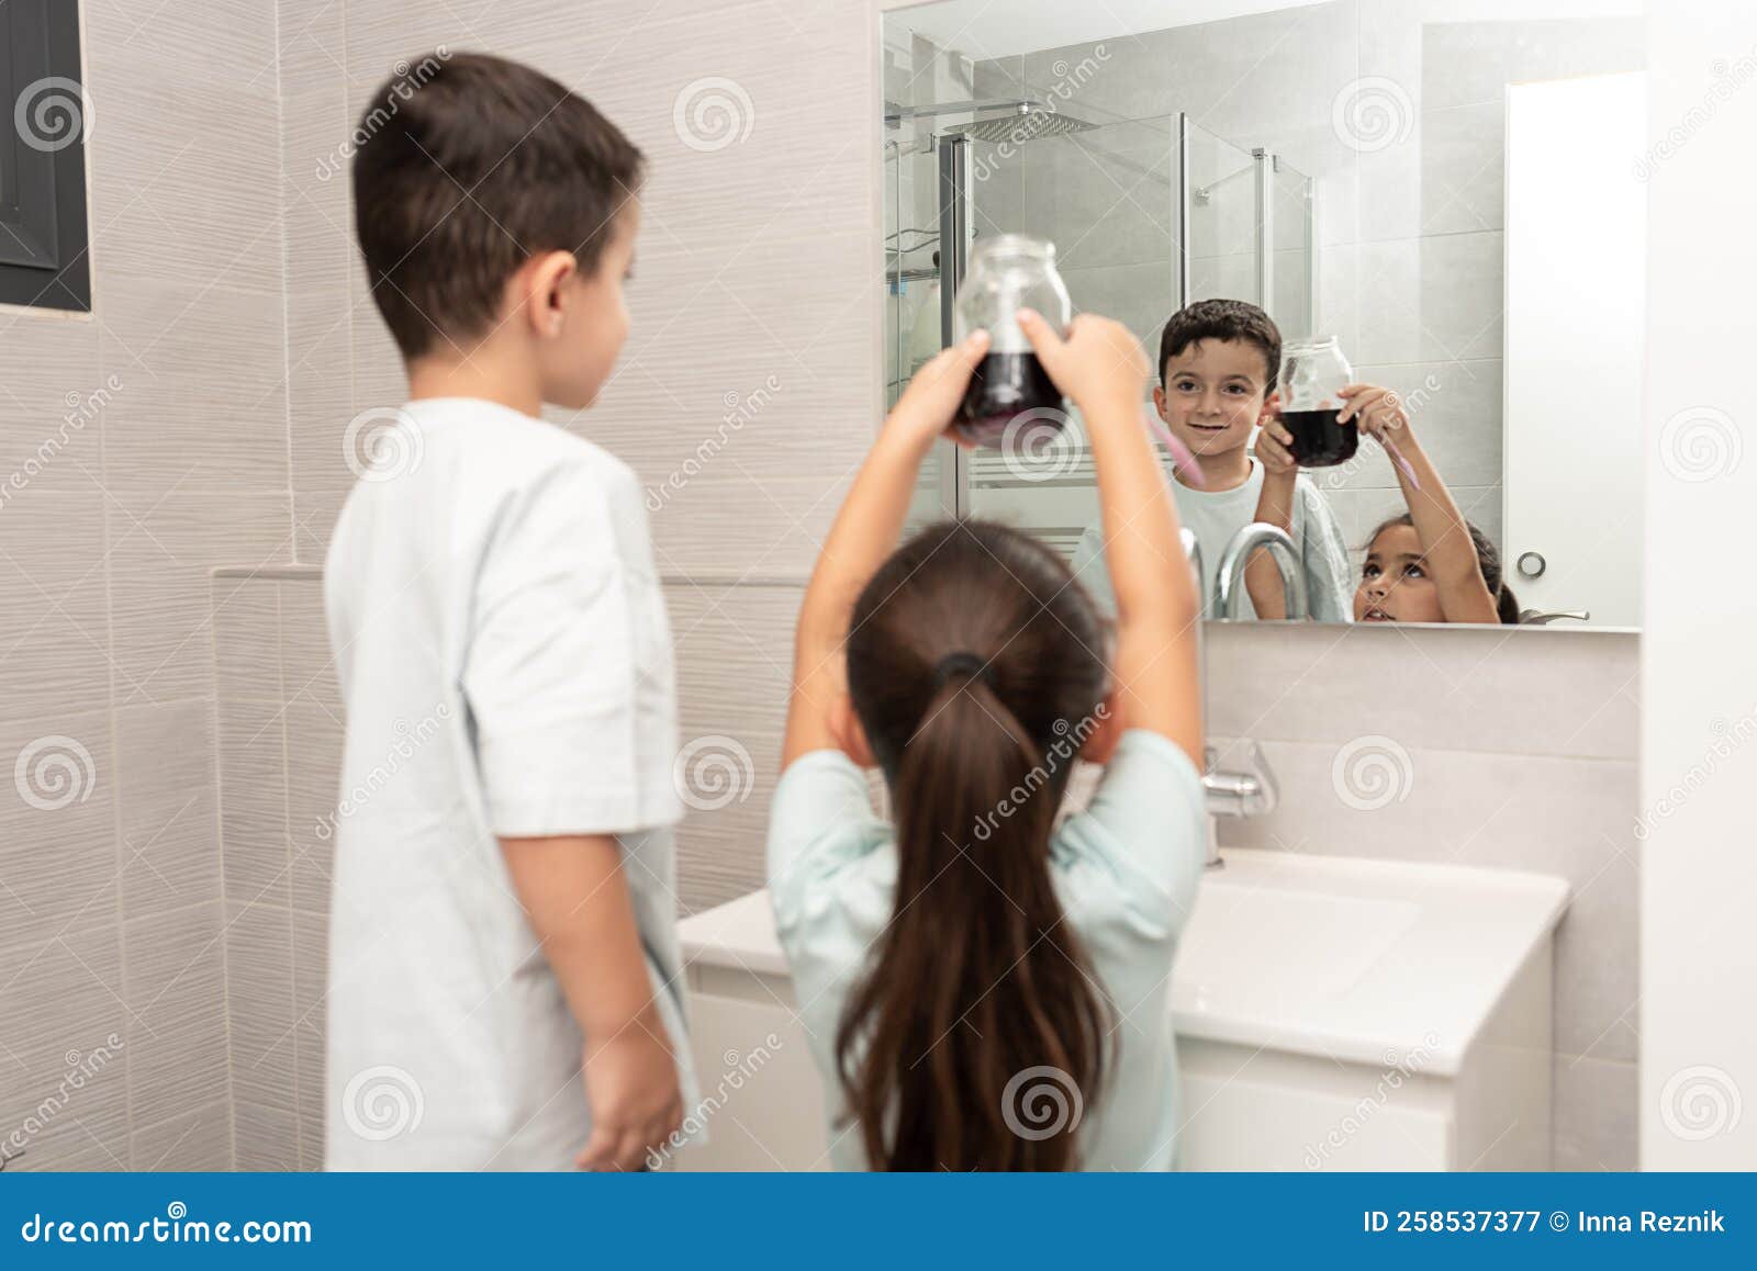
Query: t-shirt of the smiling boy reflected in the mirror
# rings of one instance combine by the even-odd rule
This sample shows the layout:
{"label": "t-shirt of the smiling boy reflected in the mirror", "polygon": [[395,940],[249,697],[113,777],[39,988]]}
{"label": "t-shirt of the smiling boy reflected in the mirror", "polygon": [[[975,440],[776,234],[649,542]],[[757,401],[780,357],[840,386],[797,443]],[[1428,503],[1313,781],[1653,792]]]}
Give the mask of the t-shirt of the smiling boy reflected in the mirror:
{"label": "t-shirt of the smiling boy reflected in the mirror", "polygon": [[[1232,535],[1256,520],[1256,500],[1263,493],[1263,465],[1251,460],[1251,476],[1232,490],[1191,490],[1182,481],[1172,481],[1177,499],[1177,520],[1202,544],[1204,613],[1219,616],[1219,558]],[[1293,481],[1293,546],[1305,569],[1305,599],[1314,621],[1355,621],[1355,586],[1349,579],[1348,544],[1335,513],[1323,493],[1304,472]],[[1103,560],[1103,521],[1093,521],[1081,534],[1074,549],[1074,572],[1105,609],[1116,613],[1116,590]],[[1244,616],[1254,618],[1256,607],[1246,592]]]}

